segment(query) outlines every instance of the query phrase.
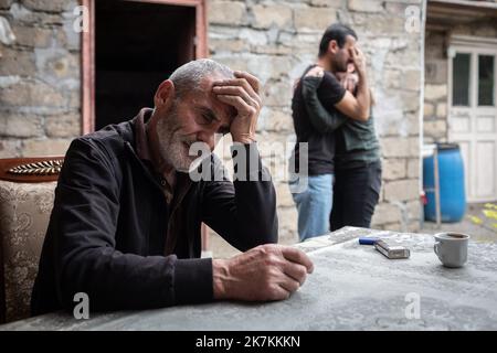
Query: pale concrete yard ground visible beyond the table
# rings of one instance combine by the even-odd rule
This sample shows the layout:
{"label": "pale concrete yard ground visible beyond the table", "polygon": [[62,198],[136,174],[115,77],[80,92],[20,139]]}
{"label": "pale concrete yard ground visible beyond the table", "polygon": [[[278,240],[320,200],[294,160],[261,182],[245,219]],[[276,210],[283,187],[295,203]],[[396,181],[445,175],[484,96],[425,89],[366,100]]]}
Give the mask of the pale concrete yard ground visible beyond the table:
{"label": "pale concrete yard ground visible beyond the table", "polygon": [[[495,203],[494,203],[495,204]],[[497,221],[489,222],[493,220],[487,220],[487,227],[482,225],[476,225],[470,221],[469,216],[477,216],[482,220],[485,220],[485,215],[483,214],[483,210],[485,208],[485,204],[469,204],[466,215],[463,221],[457,223],[442,223],[441,227],[437,228],[434,222],[424,222],[422,224],[421,231],[419,233],[424,234],[436,234],[442,232],[459,232],[465,233],[472,236],[472,238],[476,242],[491,243],[497,242],[497,228],[493,228],[491,224],[497,223]],[[289,236],[285,236],[279,239],[281,244],[295,244],[297,243],[297,238],[293,238]],[[229,258],[233,255],[240,254],[234,247],[228,244],[222,237],[211,233],[211,237],[209,239],[209,249],[211,253],[209,256],[214,258]]]}

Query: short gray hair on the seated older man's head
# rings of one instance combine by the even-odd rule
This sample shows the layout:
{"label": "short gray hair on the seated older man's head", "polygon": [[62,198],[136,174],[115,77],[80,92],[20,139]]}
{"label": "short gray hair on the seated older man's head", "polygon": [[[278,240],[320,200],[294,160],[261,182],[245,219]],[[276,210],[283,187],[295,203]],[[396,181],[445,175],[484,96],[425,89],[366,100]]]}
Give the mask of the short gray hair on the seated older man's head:
{"label": "short gray hair on the seated older man's head", "polygon": [[233,71],[226,65],[214,62],[210,58],[199,58],[178,67],[169,79],[175,84],[177,98],[184,97],[192,90],[200,90],[200,83],[213,75],[221,75],[224,78],[233,78]]}

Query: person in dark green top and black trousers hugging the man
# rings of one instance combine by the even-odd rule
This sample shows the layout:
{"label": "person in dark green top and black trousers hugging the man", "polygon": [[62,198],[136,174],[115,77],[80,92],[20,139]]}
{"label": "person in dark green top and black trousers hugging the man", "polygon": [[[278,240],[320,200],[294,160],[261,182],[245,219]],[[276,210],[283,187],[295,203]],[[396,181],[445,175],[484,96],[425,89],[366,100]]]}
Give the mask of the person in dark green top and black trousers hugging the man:
{"label": "person in dark green top and black trousers hugging the man", "polygon": [[[349,64],[347,72],[335,72],[335,75],[347,90],[358,97],[361,89],[368,89],[363,57]],[[326,109],[318,97],[322,77],[322,69],[316,67],[304,78],[303,85],[309,116],[319,121],[321,131],[335,131],[335,185],[330,229],[343,226],[368,228],[381,188],[380,143],[374,132],[372,109],[366,121],[351,119],[337,109]]]}

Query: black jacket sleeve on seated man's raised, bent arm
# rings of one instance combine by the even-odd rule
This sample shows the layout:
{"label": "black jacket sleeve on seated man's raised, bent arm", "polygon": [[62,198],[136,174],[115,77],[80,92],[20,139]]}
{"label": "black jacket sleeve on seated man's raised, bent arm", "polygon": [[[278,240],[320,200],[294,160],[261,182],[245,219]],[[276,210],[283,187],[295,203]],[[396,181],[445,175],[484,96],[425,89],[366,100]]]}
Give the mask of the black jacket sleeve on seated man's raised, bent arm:
{"label": "black jacket sleeve on seated man's raised, bent arm", "polygon": [[[223,178],[205,184],[202,221],[242,252],[277,243],[276,193],[256,143],[234,143],[232,153],[234,181]],[[247,158],[240,158],[240,153]],[[239,163],[242,160],[244,164]],[[218,170],[222,168],[216,164]]]}

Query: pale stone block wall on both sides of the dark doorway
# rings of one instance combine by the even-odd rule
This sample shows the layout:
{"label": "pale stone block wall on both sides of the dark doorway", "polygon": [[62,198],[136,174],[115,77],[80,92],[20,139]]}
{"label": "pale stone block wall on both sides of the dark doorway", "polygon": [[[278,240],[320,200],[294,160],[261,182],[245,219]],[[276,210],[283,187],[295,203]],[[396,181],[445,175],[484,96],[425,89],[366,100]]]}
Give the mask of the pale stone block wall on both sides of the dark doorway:
{"label": "pale stone block wall on both sides of the dark doorway", "polygon": [[[294,81],[317,55],[330,23],[352,25],[368,57],[383,186],[373,227],[416,229],[419,199],[420,43],[405,9],[421,0],[210,0],[209,52],[263,84],[261,142],[293,147]],[[63,153],[81,131],[80,34],[71,0],[0,0],[17,35],[0,44],[0,157]],[[421,9],[420,9],[421,10]],[[274,147],[275,145],[273,145]],[[267,143],[266,143],[267,147]],[[297,214],[285,174],[290,148],[263,150],[275,178],[283,242],[296,240]],[[272,151],[273,149],[273,151]],[[269,157],[273,158],[269,159]]]}

